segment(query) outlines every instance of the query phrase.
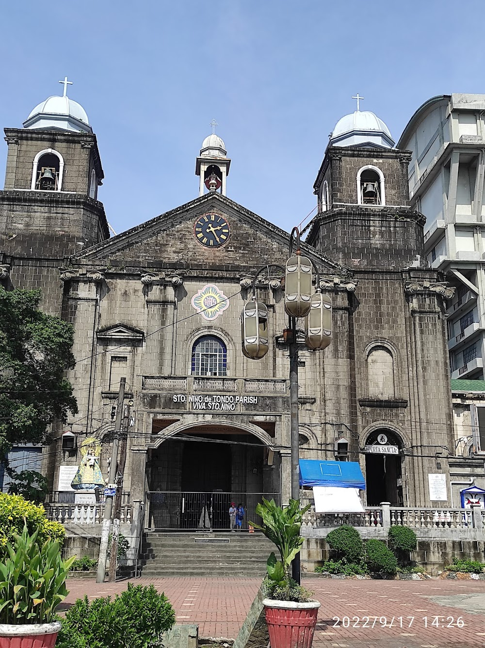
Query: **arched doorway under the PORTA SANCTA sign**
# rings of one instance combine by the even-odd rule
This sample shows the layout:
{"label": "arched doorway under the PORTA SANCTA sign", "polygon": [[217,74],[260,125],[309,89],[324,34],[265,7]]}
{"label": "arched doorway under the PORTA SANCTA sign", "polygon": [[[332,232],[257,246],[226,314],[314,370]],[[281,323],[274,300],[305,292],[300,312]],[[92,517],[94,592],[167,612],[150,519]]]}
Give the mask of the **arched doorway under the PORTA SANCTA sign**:
{"label": "arched doorway under the PORTA SANCTA sign", "polygon": [[364,446],[368,506],[403,506],[403,460],[399,436],[387,428],[371,432]]}

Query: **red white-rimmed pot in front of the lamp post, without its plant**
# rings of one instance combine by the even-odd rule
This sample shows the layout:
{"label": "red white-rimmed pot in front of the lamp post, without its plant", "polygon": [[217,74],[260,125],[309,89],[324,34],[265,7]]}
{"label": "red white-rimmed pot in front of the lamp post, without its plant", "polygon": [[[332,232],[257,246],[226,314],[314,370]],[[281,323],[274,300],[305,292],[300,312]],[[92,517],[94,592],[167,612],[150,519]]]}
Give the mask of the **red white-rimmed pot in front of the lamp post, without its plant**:
{"label": "red white-rimmed pot in front of the lamp post, without its plant", "polygon": [[271,648],[311,648],[318,601],[291,603],[265,599],[263,605]]}

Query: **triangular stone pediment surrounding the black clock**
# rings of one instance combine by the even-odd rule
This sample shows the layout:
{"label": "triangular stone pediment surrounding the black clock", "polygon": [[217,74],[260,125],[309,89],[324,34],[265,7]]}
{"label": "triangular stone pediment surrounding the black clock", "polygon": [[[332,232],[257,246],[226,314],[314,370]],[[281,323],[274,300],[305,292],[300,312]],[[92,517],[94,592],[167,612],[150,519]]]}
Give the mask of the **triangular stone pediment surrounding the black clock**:
{"label": "triangular stone pediment surrounding the black clock", "polygon": [[[207,214],[222,216],[230,235],[220,247],[209,248],[196,238],[196,222]],[[348,270],[311,246],[302,245],[322,273]],[[73,264],[108,268],[178,268],[250,272],[265,264],[284,265],[289,233],[221,194],[205,194],[152,220],[71,257]]]}

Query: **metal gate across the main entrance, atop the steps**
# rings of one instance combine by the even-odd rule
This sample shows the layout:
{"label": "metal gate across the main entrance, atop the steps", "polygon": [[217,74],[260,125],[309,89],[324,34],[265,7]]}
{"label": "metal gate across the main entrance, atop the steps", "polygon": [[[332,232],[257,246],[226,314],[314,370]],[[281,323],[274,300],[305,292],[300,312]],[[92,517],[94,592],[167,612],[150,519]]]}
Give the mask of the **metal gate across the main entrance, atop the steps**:
{"label": "metal gate across the main entrance, atop the steps", "polygon": [[[251,520],[257,524],[261,522],[255,509],[263,497],[279,504],[279,493],[150,491],[146,494],[145,527],[187,531],[249,531]],[[244,513],[231,519],[229,509],[233,502],[235,507],[241,504]]]}

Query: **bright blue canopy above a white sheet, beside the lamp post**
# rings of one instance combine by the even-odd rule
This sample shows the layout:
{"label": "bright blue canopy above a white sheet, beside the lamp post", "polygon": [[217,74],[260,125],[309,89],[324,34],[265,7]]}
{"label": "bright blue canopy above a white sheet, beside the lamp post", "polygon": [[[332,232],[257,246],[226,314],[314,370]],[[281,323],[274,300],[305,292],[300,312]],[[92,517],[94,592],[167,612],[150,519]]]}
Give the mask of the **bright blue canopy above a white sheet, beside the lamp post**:
{"label": "bright blue canopy above a white sheet, beside the lamp post", "polygon": [[366,482],[357,461],[300,459],[300,486],[339,486],[364,491]]}

